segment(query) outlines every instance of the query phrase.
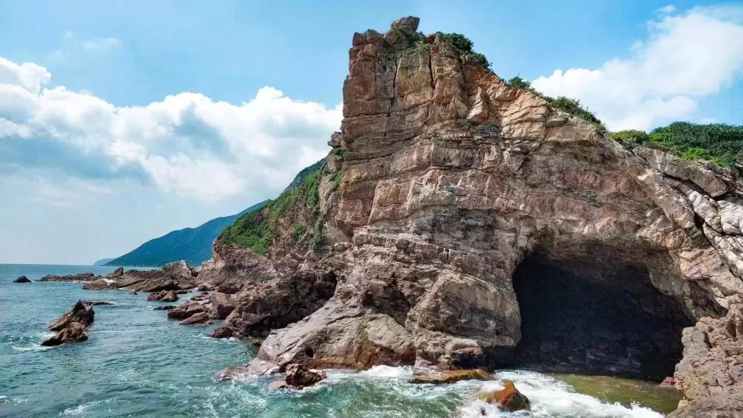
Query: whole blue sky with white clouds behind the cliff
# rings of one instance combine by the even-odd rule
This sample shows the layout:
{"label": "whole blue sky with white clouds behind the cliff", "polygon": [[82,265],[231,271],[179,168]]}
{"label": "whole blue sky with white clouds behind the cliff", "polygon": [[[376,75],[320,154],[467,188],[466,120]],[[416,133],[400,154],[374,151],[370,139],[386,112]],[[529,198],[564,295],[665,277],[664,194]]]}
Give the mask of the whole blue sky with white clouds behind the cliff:
{"label": "whole blue sky with white clouds behind the cliff", "polygon": [[91,264],[276,197],[340,127],[354,32],[464,33],[610,130],[743,125],[743,3],[0,1],[0,263]]}

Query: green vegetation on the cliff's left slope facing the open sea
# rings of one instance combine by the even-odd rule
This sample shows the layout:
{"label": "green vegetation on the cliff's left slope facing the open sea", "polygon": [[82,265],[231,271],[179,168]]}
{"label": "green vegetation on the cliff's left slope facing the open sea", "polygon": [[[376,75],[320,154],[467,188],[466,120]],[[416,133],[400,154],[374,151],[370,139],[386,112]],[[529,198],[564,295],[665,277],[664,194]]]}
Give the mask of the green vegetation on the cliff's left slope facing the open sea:
{"label": "green vegetation on the cliff's left slope facing the open sea", "polygon": [[[310,215],[317,215],[319,212],[318,187],[324,162],[325,160],[320,160],[299,172],[295,181],[292,182],[293,185],[296,184],[297,186],[285,190],[279,197],[271,200],[264,209],[241,216],[235,223],[224,229],[218,240],[225,244],[247,246],[259,254],[266,255],[273,243],[274,236],[281,227],[279,218],[285,215],[289,209],[299,205],[302,206],[303,211]],[[322,227],[322,221],[318,219],[311,238],[312,249],[319,246],[314,244],[318,242],[322,244]],[[291,235],[295,241],[299,241],[306,230],[306,226],[295,224],[291,230]]]}

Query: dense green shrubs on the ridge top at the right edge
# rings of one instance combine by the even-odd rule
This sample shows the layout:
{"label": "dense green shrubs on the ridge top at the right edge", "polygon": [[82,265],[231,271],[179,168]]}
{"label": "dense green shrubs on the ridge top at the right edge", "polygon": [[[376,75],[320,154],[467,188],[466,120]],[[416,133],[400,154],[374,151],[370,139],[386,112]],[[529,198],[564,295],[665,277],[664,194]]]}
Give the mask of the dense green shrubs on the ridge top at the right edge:
{"label": "dense green shrubs on the ridge top at the right edge", "polygon": [[629,146],[655,143],[670,148],[684,160],[712,161],[727,169],[733,169],[736,161],[743,162],[743,126],[675,122],[650,134],[632,129],[609,138]]}

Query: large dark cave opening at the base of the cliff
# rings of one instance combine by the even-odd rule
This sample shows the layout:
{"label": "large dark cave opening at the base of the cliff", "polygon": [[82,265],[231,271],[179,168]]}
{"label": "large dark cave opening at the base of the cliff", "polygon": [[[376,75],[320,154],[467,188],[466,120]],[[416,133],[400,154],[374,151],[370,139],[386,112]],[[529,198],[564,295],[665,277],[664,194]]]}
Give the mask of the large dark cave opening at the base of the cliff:
{"label": "large dark cave opening at the base of the cliff", "polygon": [[528,255],[513,274],[522,316],[516,365],[661,381],[692,321],[641,267]]}

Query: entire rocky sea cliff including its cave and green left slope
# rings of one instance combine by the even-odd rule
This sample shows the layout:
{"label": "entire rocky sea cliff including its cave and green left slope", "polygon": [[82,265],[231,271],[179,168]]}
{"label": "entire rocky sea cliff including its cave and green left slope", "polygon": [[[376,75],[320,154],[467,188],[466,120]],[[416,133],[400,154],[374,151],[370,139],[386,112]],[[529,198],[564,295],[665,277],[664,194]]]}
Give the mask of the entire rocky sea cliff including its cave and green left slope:
{"label": "entire rocky sea cliff including its cave and green left slope", "polygon": [[[685,408],[730,397],[688,389],[742,379],[738,364],[699,368],[689,344],[738,321],[714,319],[743,295],[738,174],[625,148],[417,30],[411,17],[354,34],[317,181],[243,220],[242,241],[220,238],[200,273],[242,289],[227,322],[267,336],[251,368],[661,379],[701,319],[676,373]],[[743,344],[733,328],[726,350]]]}

